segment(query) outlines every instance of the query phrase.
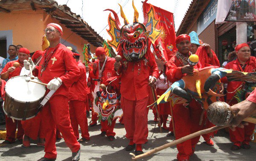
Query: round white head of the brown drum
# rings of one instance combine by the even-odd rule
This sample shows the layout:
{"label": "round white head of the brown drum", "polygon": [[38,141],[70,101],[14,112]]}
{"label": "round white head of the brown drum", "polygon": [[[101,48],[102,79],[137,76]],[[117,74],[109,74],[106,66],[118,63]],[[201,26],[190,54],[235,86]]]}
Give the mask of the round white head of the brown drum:
{"label": "round white head of the brown drum", "polygon": [[[42,98],[46,92],[44,85],[26,82],[27,76],[17,76],[9,79],[6,83],[6,94],[19,102],[34,102]],[[34,81],[41,82],[37,78]]]}

